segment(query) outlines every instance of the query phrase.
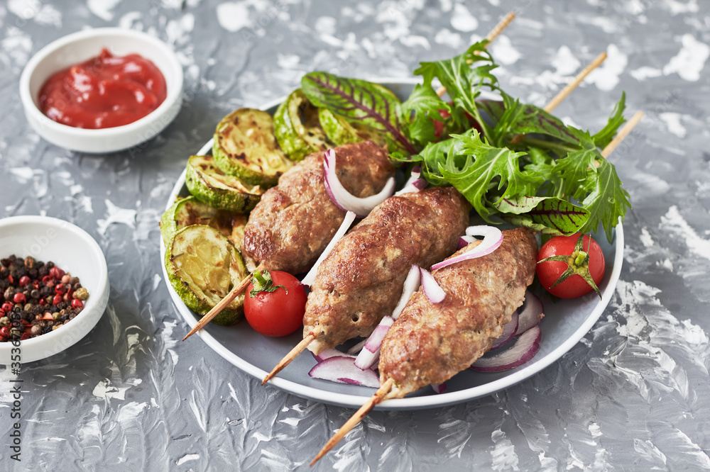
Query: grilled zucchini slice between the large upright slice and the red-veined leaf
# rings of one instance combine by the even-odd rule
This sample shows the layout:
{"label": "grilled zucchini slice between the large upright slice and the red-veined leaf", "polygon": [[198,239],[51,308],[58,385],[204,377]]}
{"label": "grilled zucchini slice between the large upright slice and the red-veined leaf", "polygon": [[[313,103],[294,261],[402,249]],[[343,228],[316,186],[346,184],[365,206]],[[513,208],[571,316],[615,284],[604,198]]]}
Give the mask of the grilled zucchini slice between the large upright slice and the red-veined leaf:
{"label": "grilled zucchini slice between the large upright slice and the red-veined leaf", "polygon": [[280,104],[273,116],[276,140],[283,152],[300,161],[312,152],[328,149],[318,108],[312,106],[301,89],[295,89]]}

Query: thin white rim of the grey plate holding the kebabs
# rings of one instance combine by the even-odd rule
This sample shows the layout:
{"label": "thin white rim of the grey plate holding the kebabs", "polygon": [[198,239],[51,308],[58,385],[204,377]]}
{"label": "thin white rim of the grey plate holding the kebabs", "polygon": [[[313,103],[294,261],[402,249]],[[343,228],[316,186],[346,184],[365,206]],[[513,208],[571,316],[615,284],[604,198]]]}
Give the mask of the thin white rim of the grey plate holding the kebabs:
{"label": "thin white rim of the grey plate holding the kebabs", "polygon": [[[419,80],[411,78],[402,79],[378,77],[377,79],[369,80],[371,80],[371,82],[379,82],[381,84],[420,83]],[[283,96],[279,99],[269,101],[260,108],[272,108],[273,106],[277,106],[285,99],[286,97]],[[198,154],[204,154],[208,150],[212,149],[213,142],[214,140],[212,138],[207,141],[200,148]],[[186,170],[183,170],[180,176],[178,177],[178,180],[175,182],[175,186],[173,186],[173,190],[170,192],[170,196],[168,197],[168,203],[165,206],[165,210],[168,210],[168,208],[173,205],[173,203],[175,202],[175,198],[178,196],[180,191],[182,191],[182,187],[185,185],[186,172]],[[548,366],[550,366],[552,363],[554,363],[564,354],[566,354],[570,349],[572,349],[572,347],[574,347],[574,345],[577,344],[577,342],[579,342],[579,340],[584,337],[584,335],[586,335],[589,330],[591,330],[591,327],[593,327],[596,321],[599,320],[599,317],[601,317],[601,314],[604,312],[604,310],[606,310],[606,307],[611,302],[611,297],[613,296],[614,291],[616,291],[616,286],[621,276],[621,266],[623,265],[624,234],[623,223],[621,220],[615,228],[615,239],[616,252],[614,253],[613,269],[611,271],[611,276],[609,278],[608,284],[603,289],[601,300],[599,301],[599,303],[597,303],[597,305],[594,306],[594,309],[591,310],[591,313],[589,313],[589,315],[586,317],[584,322],[577,328],[577,330],[575,330],[572,335],[568,337],[564,342],[562,342],[562,344],[560,344],[557,348],[553,349],[551,352],[541,357],[540,359],[537,359],[534,363],[528,364],[528,366],[523,367],[523,369],[514,371],[503,378],[498,378],[494,381],[484,383],[483,385],[466,388],[464,390],[457,390],[449,393],[439,393],[437,395],[423,395],[410,398],[393,398],[391,400],[385,400],[382,403],[379,403],[378,405],[376,405],[375,409],[424,410],[427,408],[439,408],[447,405],[464,403],[466,401],[475,400],[476,398],[491,395],[491,393],[496,393],[505,388],[514,386],[515,384],[532,377],[533,375],[535,375],[535,373],[546,369]],[[160,261],[163,260],[165,260],[165,243],[163,242],[163,237],[160,236]],[[185,322],[187,322],[187,325],[189,325],[190,328],[195,327],[195,325],[197,325],[197,318],[195,317],[195,314],[192,313],[192,310],[187,308],[187,305],[185,305],[185,303],[182,303],[182,300],[180,300],[178,294],[175,293],[172,286],[170,286],[170,282],[168,281],[168,273],[165,269],[165,264],[161,263],[160,265],[162,266],[163,270],[163,279],[165,279],[165,284],[168,286],[170,298],[173,299],[175,308],[178,309],[178,312],[185,320]],[[206,330],[200,330],[195,333],[195,335],[199,336],[210,349],[212,349],[214,352],[217,352],[217,354],[222,356],[226,361],[229,361],[230,364],[236,366],[238,369],[244,371],[245,373],[249,373],[257,380],[261,380],[268,373],[267,371],[259,369],[257,366],[250,364],[248,361],[241,359],[241,357],[239,357],[237,354],[231,352],[231,350],[224,347]],[[337,393],[330,390],[321,390],[320,388],[304,386],[300,383],[289,381],[279,376],[275,376],[274,378],[272,378],[269,383],[271,384],[271,386],[279,388],[280,390],[283,390],[287,393],[293,393],[294,395],[300,396],[302,398],[308,398],[310,400],[315,400],[320,403],[338,405],[346,408],[360,408],[369,399],[368,396],[350,395],[348,393]]]}

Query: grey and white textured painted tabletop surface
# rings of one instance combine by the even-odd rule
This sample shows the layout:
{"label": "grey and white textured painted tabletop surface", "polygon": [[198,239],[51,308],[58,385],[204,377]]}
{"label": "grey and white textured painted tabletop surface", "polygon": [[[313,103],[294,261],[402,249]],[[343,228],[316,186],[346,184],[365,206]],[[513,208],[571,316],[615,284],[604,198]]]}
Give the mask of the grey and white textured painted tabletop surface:
{"label": "grey and white textured painted tabletop surface", "polygon": [[[234,108],[283,96],[312,69],[408,77],[417,60],[458,54],[510,10],[518,19],[491,47],[507,89],[545,103],[607,50],[557,113],[598,129],[622,90],[631,113],[646,113],[613,154],[634,207],[616,296],[537,376],[450,408],[373,412],[315,469],[710,469],[708,2],[69,3],[0,3],[0,216],[46,214],[87,230],[106,254],[111,300],[89,336],[25,366],[19,464],[0,393],[1,469],[307,469],[352,411],[262,388],[199,339],[179,342],[187,327],[158,254],[169,191]],[[40,47],[100,26],[172,45],[187,94],[147,145],[96,156],[40,139],[17,85]],[[0,370],[0,391],[9,378]]]}

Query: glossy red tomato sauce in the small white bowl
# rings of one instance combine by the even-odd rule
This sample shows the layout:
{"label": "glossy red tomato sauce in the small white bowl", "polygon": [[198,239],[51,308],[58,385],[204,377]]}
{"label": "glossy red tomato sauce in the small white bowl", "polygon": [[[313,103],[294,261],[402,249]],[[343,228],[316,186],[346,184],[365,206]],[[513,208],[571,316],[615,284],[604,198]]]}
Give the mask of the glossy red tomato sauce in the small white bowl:
{"label": "glossy red tomato sauce in the small white bowl", "polygon": [[40,110],[75,128],[114,128],[151,113],[167,96],[165,77],[138,54],[116,57],[105,47],[97,57],[67,67],[40,89]]}

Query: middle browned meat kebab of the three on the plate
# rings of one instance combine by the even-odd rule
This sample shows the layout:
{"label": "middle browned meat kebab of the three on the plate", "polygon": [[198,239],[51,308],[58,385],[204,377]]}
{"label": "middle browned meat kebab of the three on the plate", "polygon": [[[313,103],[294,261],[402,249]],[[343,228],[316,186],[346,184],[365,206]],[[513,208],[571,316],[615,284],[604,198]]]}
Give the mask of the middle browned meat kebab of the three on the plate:
{"label": "middle browned meat kebab of the three on the plate", "polygon": [[392,313],[412,264],[428,267],[454,252],[469,203],[452,187],[393,196],[351,230],[318,267],[303,316],[318,354],[368,336]]}

